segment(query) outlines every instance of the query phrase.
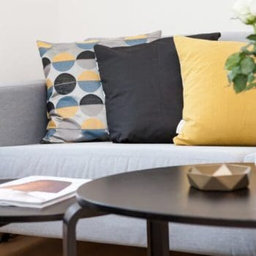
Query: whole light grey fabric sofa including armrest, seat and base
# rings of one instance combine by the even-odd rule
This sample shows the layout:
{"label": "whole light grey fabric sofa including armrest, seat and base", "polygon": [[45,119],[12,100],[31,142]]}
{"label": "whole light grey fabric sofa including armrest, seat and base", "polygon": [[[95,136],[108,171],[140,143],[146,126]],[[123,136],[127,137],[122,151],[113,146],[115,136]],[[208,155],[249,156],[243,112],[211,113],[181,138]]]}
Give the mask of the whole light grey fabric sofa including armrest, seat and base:
{"label": "whole light grey fabric sofa including armrest, seat and base", "polygon": [[[248,33],[223,33],[243,40]],[[255,147],[172,144],[69,143],[42,145],[46,118],[45,82],[0,85],[0,178],[29,175],[99,178],[150,167],[255,162]],[[61,238],[61,222],[12,224],[0,232]],[[78,239],[146,246],[146,222],[107,216],[83,219]],[[170,249],[204,255],[256,255],[256,230],[170,223]]]}

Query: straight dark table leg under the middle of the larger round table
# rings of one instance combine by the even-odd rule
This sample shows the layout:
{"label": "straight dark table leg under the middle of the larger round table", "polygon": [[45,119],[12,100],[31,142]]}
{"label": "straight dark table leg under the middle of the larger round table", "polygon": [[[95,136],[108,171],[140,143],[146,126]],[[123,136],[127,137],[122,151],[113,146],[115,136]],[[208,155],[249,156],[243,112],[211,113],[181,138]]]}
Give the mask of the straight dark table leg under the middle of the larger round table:
{"label": "straight dark table leg under the middle of the larger round table", "polygon": [[147,219],[148,256],[169,256],[168,222]]}

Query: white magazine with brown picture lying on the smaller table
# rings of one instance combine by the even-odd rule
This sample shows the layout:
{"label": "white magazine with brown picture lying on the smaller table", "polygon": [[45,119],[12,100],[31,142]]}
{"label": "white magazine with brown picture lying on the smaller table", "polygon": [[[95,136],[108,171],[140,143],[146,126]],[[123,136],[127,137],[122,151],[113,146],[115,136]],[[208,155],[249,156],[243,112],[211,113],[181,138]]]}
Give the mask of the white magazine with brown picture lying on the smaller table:
{"label": "white magazine with brown picture lying on the smaller table", "polygon": [[88,181],[50,176],[20,178],[0,185],[0,205],[42,208],[74,196]]}

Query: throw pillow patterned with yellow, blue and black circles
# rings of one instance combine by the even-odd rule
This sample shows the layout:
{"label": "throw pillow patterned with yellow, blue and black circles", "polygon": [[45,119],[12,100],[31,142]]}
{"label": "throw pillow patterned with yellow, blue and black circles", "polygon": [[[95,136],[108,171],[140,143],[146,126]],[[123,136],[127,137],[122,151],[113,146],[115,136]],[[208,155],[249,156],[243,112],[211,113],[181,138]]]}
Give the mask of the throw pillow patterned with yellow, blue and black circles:
{"label": "throw pillow patterned with yellow, blue and black circles", "polygon": [[48,89],[48,127],[42,143],[109,140],[105,95],[94,45],[139,45],[161,37],[161,31],[135,37],[83,42],[38,41]]}

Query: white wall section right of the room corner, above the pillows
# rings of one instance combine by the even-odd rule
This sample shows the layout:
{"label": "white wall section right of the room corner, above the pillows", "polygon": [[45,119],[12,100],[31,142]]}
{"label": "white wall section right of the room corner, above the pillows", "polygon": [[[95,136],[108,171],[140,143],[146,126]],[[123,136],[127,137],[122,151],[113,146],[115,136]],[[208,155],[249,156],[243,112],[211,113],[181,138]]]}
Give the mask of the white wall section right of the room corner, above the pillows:
{"label": "white wall section right of the room corner, above the pillows", "polygon": [[231,20],[233,3],[234,0],[61,0],[60,39],[157,29],[165,35],[248,30],[238,20]]}

